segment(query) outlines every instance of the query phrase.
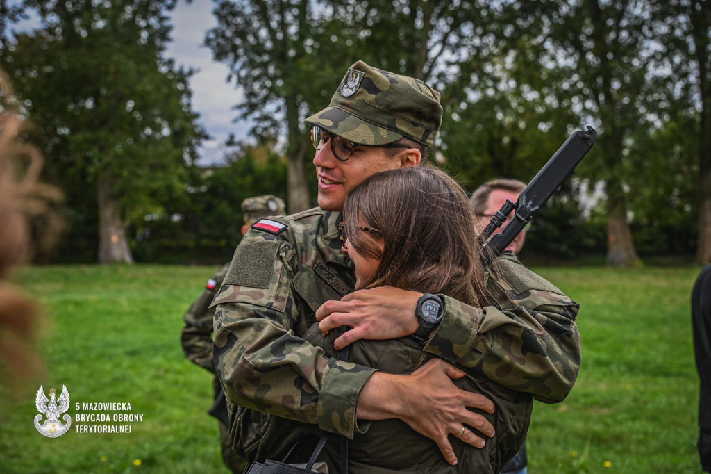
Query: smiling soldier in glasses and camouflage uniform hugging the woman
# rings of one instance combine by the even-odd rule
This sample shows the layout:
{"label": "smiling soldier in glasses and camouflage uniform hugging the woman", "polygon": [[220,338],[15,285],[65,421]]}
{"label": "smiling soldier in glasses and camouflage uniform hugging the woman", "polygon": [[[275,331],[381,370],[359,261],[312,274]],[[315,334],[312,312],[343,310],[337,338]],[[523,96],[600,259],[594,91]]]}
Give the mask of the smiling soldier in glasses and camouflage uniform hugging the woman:
{"label": "smiling soldier in glasses and camouflage uniform hugging the woman", "polygon": [[484,446],[493,426],[481,411],[491,413],[493,404],[454,386],[451,379],[464,372],[443,361],[476,367],[540,401],[561,401],[572,388],[580,364],[578,306],[515,261],[497,305],[444,297],[442,322],[424,346],[436,358],[410,375],[325,357],[304,339],[316,320],[324,332],[353,327],[335,340],[336,349],[357,339],[406,337],[419,327],[422,293],[350,293],[353,264],[341,252],[338,223],[346,194],[364,179],[422,162],[441,117],[437,91],[359,61],[329,107],[306,120],[319,138],[319,208],[252,226],[213,300],[215,368],[230,436],[249,460],[283,458],[300,440],[289,460],[303,461],[311,447],[306,433],[317,428],[353,438],[367,431],[368,420],[399,418],[456,463],[449,435],[464,431],[459,441]]}

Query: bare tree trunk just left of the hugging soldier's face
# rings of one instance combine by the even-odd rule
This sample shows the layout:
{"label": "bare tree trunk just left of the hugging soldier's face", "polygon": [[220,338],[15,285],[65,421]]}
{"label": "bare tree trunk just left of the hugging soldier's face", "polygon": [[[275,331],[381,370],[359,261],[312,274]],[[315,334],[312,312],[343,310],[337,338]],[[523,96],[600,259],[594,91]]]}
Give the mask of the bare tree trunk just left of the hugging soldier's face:
{"label": "bare tree trunk just left of the hugging soldier's face", "polygon": [[304,137],[299,130],[299,105],[296,98],[287,97],[287,127],[289,129],[289,148],[287,149],[287,203],[289,214],[306,211],[311,207],[309,185],[304,174]]}

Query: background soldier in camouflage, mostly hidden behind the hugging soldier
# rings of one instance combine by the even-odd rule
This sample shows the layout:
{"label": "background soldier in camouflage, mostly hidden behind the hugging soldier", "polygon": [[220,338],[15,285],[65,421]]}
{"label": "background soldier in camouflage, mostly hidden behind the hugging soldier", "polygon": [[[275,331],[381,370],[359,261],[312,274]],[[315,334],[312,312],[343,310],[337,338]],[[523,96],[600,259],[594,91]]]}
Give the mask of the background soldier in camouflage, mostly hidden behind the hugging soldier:
{"label": "background soldier in camouflage, mostly hidden behind the hugging soldier", "polygon": [[[287,214],[284,201],[277,196],[265,194],[255,196],[242,201],[242,214],[245,224],[242,226],[242,236],[247,233],[249,226],[264,216]],[[214,310],[210,310],[210,302],[215,297],[215,292],[222,286],[225,274],[230,264],[223,265],[213,278],[208,280],[205,290],[193,302],[188,312],[183,316],[185,327],[181,332],[181,343],[185,357],[194,364],[207,369],[215,374],[215,364],[213,363],[213,315]],[[222,443],[223,460],[233,473],[242,473],[245,468],[244,458],[232,451],[230,443],[230,422],[225,401],[225,392],[220,386],[220,381],[215,376],[213,381],[215,389],[215,404],[210,409],[210,414],[218,418],[220,426],[220,441]]]}

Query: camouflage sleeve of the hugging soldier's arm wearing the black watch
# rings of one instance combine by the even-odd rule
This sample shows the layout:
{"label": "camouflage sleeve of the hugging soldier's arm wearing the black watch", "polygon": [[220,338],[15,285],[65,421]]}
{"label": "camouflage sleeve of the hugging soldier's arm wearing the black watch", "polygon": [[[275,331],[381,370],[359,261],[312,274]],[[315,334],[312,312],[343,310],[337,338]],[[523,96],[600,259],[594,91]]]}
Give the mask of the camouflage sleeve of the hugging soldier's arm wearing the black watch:
{"label": "camouflage sleeve of the hugging soldier's arm wearing the black watch", "polygon": [[442,324],[424,348],[538,401],[565,399],[580,369],[579,306],[514,256],[497,260],[488,288],[497,306],[444,297]]}

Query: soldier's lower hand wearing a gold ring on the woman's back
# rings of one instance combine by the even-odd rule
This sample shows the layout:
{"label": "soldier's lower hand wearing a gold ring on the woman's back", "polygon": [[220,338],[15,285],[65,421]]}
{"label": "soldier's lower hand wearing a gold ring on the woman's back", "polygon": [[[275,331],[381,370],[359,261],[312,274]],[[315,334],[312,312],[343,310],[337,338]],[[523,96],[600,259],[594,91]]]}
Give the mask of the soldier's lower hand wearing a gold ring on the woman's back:
{"label": "soldier's lower hand wearing a gold ring on the woman's back", "polygon": [[467,409],[491,414],[493,402],[483,395],[461,390],[451,382],[464,375],[439,359],[430,360],[407,376],[376,372],[358,399],[358,418],[400,418],[417,433],[437,443],[447,462],[456,465],[451,447],[455,436],[475,448],[483,448],[482,436],[494,435],[493,425],[483,415]]}

